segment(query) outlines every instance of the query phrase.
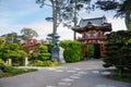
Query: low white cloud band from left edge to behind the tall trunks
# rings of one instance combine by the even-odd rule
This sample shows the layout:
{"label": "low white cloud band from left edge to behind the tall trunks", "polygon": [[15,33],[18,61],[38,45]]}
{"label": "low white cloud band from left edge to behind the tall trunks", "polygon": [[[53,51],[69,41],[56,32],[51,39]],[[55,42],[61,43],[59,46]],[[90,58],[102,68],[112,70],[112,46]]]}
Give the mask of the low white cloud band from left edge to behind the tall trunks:
{"label": "low white cloud band from left edge to behind the tall trunks", "polygon": [[[52,33],[52,23],[51,22],[39,22],[39,23],[33,23],[27,25],[8,25],[4,28],[14,28],[14,29],[0,29],[3,32],[3,34],[8,34],[11,32],[16,32],[20,34],[21,29],[24,27],[32,28],[38,33],[37,39],[46,39],[48,34]],[[60,36],[60,40],[73,40],[73,32],[67,27],[62,27],[62,24],[57,29],[58,35]]]}

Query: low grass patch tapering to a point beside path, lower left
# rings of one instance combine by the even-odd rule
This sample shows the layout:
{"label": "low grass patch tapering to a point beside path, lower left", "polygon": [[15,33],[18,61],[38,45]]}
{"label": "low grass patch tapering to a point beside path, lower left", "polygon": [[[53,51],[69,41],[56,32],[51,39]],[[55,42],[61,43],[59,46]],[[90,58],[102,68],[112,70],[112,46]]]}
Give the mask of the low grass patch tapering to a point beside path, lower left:
{"label": "low grass patch tapering to a point beside path, lower left", "polygon": [[11,66],[5,66],[4,73],[0,75],[1,77],[9,77],[9,76],[14,76],[23,73],[28,73],[28,72],[35,72],[37,71],[36,69],[16,69],[16,67],[11,67]]}

